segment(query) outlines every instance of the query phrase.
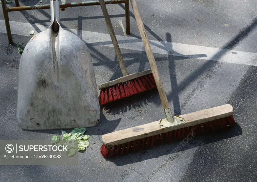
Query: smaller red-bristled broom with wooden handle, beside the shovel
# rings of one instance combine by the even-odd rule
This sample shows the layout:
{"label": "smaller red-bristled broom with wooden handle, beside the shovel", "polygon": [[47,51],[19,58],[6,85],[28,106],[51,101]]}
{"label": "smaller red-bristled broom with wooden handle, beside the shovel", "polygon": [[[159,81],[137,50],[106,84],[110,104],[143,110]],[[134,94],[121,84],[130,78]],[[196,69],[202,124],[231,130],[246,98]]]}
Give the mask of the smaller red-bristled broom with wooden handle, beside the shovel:
{"label": "smaller red-bristled broom with wooden handle, beside the shovel", "polygon": [[100,105],[105,105],[156,88],[151,69],[128,74],[104,0],[99,0],[99,4],[123,74],[123,77],[98,85],[98,89],[100,90]]}

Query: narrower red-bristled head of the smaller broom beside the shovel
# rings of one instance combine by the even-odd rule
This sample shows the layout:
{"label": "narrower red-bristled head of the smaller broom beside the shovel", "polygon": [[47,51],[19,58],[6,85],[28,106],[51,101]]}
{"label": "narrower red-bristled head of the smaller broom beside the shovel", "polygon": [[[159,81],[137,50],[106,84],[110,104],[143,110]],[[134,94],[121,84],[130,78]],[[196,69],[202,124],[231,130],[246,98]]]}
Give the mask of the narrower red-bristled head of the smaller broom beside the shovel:
{"label": "narrower red-bristled head of the smaller broom beside the shovel", "polygon": [[99,96],[100,105],[105,105],[156,88],[156,84],[151,70],[146,70],[123,76],[114,81],[102,84],[98,88],[101,90]]}

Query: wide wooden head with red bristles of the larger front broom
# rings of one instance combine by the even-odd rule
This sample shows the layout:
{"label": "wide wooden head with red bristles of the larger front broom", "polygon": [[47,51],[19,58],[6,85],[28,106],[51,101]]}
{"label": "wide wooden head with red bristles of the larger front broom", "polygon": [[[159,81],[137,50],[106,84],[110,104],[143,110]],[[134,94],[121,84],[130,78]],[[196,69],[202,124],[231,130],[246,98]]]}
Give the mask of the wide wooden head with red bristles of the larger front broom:
{"label": "wide wooden head with red bristles of the larger front broom", "polygon": [[[158,125],[158,121],[157,121],[157,122],[137,126],[140,128],[144,128],[145,130],[140,134],[133,133],[134,128],[128,128],[128,129],[125,129],[124,131],[117,131],[116,133],[114,132],[113,134],[112,133],[106,134],[105,137],[102,136],[103,141],[105,140],[106,142],[108,142],[107,137],[108,138],[116,137],[116,139],[113,140],[115,142],[108,142],[108,143],[104,142],[106,144],[102,145],[100,152],[102,153],[104,158],[111,158],[119,155],[124,155],[127,153],[140,151],[140,150],[146,150],[154,146],[158,146],[161,144],[174,142],[178,140],[183,140],[185,138],[192,138],[194,136],[198,136],[205,133],[225,131],[226,129],[229,129],[235,126],[236,124],[232,115],[232,111],[231,112],[229,111],[230,106],[231,105],[223,105],[216,108],[205,109],[205,110],[189,113],[186,115],[182,115],[184,118],[192,118],[192,119],[186,119],[188,120],[188,123],[181,124],[181,126],[177,126],[178,128],[179,127],[182,127],[182,128],[175,129],[175,130],[172,130],[172,127],[160,129],[158,128],[158,126],[156,126]],[[224,111],[222,111],[222,109],[224,109]],[[199,117],[195,119],[194,116],[197,116],[197,115],[199,115]],[[218,119],[210,120],[211,118],[218,118]],[[205,121],[205,123],[203,121]],[[200,123],[200,124],[192,125],[194,123]],[[185,127],[183,127],[183,125]],[[119,138],[119,136],[117,136],[117,134],[119,133],[122,135],[125,135],[125,137],[122,136],[121,138]],[[131,138],[133,139],[133,141],[130,140]],[[119,142],[119,140],[123,140],[124,143]],[[117,143],[117,145],[115,145],[115,143]]]}

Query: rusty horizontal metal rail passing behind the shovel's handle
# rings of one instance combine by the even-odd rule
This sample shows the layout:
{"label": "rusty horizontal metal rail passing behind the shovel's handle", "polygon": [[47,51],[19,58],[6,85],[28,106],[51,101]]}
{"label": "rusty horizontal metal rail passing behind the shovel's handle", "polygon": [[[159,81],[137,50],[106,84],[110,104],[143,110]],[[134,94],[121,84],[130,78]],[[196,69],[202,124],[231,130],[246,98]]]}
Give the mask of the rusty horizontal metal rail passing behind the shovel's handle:
{"label": "rusty horizontal metal rail passing behind the shovel's handle", "polygon": [[[119,4],[126,3],[126,0],[107,0],[105,4]],[[60,8],[76,7],[76,6],[92,6],[100,5],[99,1],[85,1],[76,3],[60,3]],[[40,9],[50,9],[50,4],[44,5],[34,5],[34,6],[19,6],[19,7],[6,7],[6,11],[26,11],[26,10],[40,10]]]}

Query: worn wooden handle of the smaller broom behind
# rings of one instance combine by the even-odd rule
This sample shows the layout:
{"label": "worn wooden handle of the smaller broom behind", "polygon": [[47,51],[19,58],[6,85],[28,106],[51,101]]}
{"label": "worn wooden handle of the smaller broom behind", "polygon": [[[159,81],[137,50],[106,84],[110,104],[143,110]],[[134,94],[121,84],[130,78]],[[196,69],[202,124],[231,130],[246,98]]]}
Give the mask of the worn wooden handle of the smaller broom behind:
{"label": "worn wooden handle of the smaller broom behind", "polygon": [[115,50],[118,62],[120,64],[122,74],[123,74],[123,76],[126,76],[126,75],[128,75],[128,72],[127,72],[125,63],[122,58],[121,50],[120,50],[118,41],[115,36],[115,32],[114,32],[113,25],[112,25],[111,19],[109,17],[109,14],[108,14],[108,11],[106,8],[106,4],[105,4],[104,0],[99,0],[99,4],[101,6],[107,28],[108,28],[109,34],[110,34],[112,42],[113,42],[114,50]]}

